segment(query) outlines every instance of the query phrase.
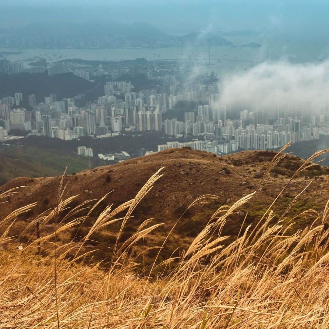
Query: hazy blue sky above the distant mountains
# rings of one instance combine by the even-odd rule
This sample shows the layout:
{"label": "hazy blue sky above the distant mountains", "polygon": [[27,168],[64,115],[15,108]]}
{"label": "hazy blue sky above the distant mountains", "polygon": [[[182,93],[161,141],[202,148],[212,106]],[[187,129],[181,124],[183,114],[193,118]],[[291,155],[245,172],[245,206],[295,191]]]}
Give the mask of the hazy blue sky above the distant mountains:
{"label": "hazy blue sky above the distant mountains", "polygon": [[148,22],[168,33],[213,29],[325,34],[328,1],[269,0],[1,0],[1,27],[42,21],[110,19]]}

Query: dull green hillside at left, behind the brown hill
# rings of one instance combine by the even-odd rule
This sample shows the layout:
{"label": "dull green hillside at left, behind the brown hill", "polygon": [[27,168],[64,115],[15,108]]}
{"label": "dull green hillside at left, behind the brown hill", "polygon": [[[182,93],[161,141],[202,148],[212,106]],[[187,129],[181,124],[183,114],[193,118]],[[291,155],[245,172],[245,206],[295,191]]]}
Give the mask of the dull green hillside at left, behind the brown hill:
{"label": "dull green hillside at left, behind the brown hill", "polygon": [[[93,163],[92,163],[93,164]],[[88,168],[88,158],[57,150],[15,145],[1,146],[0,185],[16,177],[58,176],[68,166],[68,173]]]}

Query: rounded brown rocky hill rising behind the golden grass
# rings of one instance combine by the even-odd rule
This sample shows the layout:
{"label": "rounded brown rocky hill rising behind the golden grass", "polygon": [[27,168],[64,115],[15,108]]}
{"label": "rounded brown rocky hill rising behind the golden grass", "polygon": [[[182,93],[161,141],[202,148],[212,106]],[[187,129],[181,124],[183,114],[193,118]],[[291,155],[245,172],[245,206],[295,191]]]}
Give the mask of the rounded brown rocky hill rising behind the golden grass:
{"label": "rounded brown rocky hill rising behind the golden grass", "polygon": [[[236,239],[241,225],[243,229],[249,225],[254,228],[255,223],[261,219],[273,198],[286,185],[284,193],[272,207],[275,216],[271,220],[275,222],[284,216],[284,223],[293,221],[296,228],[304,229],[311,224],[312,218],[299,215],[299,213],[310,208],[320,212],[328,200],[328,194],[323,191],[329,190],[329,168],[313,165],[293,176],[304,161],[286,155],[267,172],[268,166],[275,157],[275,152],[266,151],[246,151],[216,157],[207,152],[191,149],[168,149],[112,166],[66,175],[65,184],[68,183],[66,193],[76,195],[72,201],[74,206],[88,200],[99,200],[105,194],[109,194],[89,215],[88,220],[78,231],[68,230],[63,239],[64,241],[67,239],[76,241],[87,236],[97,216],[101,213],[102,207],[108,204],[118,207],[127,200],[133,199],[148,178],[161,167],[164,167],[162,170],[164,176],[139,202],[133,217],[129,219],[120,237],[120,242],[129,239],[148,218],[153,218],[155,224],[162,223],[163,218],[166,218],[161,229],[155,230],[143,240],[143,245],[137,246],[139,253],[147,245],[161,243],[178,221],[168,238],[168,245],[162,251],[160,260],[171,255],[178,257],[180,251],[187,248],[200,233],[202,227],[207,225],[216,209],[227,204],[231,205],[237,202],[241,196],[250,194],[256,189],[258,189],[257,198],[250,202],[247,212],[235,212],[227,220],[228,225],[223,228],[222,233],[230,238],[225,240],[225,244]],[[293,181],[291,181],[292,176]],[[12,195],[10,203],[0,204],[2,216],[8,215],[26,203],[38,202],[29,214],[18,217],[17,221],[13,223],[9,230],[11,236],[17,236],[21,227],[30,218],[56,206],[60,180],[60,176],[36,178],[32,181],[29,178],[17,178],[1,187],[2,190],[9,190],[17,186],[28,186],[21,193]],[[311,181],[311,186],[307,187]],[[306,187],[307,193],[294,200]],[[206,206],[201,203],[189,208],[191,202],[200,195],[211,195],[212,197],[207,200],[210,204]],[[289,206],[291,202],[292,204]],[[95,201],[92,201],[92,204],[95,204]],[[287,207],[290,207],[289,215],[284,214]],[[87,213],[88,210],[85,209],[82,215]],[[49,233],[49,230],[53,229],[53,224],[51,221],[47,227],[41,230],[41,233]],[[111,248],[115,244],[115,236],[119,229],[120,225],[113,223],[110,227],[95,234],[93,241],[90,241],[89,244],[102,248],[94,251],[92,255],[94,259],[110,261]],[[290,228],[288,231],[292,233]],[[26,243],[32,234],[33,230],[27,230],[20,237],[20,241]],[[156,251],[153,249],[148,250],[143,256],[139,256],[138,261],[149,265],[155,253]]]}

